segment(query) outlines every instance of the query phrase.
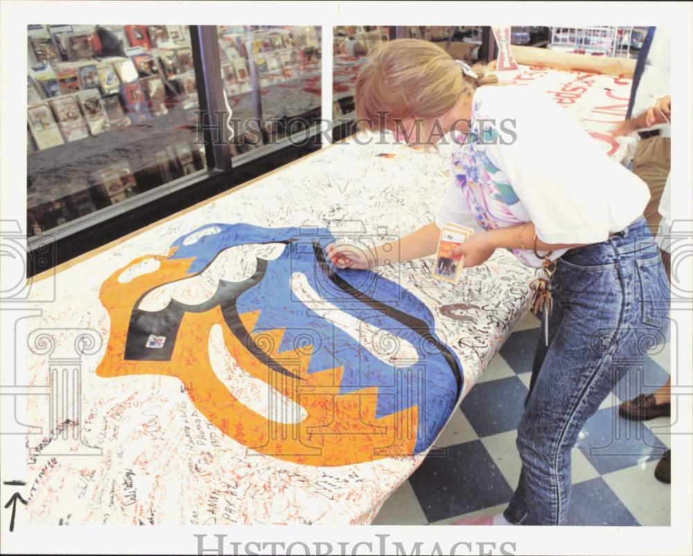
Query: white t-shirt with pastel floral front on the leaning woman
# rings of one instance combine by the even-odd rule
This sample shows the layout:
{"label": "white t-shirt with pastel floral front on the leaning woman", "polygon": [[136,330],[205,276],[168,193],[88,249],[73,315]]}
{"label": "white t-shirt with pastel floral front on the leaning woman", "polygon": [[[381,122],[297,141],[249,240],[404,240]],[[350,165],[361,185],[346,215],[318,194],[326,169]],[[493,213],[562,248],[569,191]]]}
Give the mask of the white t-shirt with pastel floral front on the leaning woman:
{"label": "white t-shirt with pastel floral front on the leaning woman", "polygon": [[[650,197],[647,184],[608,157],[559,105],[512,85],[475,92],[470,132],[453,150],[451,181],[439,227],[533,222],[545,243],[606,241],[642,216]],[[514,250],[518,259],[539,266],[525,246]]]}

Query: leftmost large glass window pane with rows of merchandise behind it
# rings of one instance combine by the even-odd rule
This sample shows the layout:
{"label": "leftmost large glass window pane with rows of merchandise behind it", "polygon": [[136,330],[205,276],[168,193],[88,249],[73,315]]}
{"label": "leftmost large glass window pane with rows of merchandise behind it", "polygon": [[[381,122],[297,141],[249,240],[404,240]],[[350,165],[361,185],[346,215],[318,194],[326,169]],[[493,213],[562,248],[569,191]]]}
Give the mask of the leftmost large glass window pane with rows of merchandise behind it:
{"label": "leftmost large glass window pane with rows of merchandise behind it", "polygon": [[28,230],[203,172],[188,26],[28,27]]}

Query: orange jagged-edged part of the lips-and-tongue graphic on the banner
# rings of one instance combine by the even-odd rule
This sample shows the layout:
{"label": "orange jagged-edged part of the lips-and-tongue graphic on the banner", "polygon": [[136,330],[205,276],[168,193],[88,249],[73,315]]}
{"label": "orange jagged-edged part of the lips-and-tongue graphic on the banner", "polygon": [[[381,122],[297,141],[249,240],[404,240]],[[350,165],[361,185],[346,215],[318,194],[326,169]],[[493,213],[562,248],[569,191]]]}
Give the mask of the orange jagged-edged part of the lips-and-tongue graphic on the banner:
{"label": "orange jagged-edged part of the lips-and-tongue graphic on the banner", "polygon": [[[146,259],[157,259],[161,264],[159,270],[127,284],[118,281],[124,270]],[[308,374],[312,347],[277,352],[284,329],[251,336],[258,345],[268,345],[267,354],[301,380],[270,370],[231,333],[220,306],[204,313],[184,315],[170,360],[125,360],[132,309],[152,288],[189,277],[186,269],[190,262],[191,259],[140,257],[104,281],[99,297],[110,315],[111,331],[106,354],[96,370],[98,376],[176,376],[185,385],[195,407],[222,433],[249,449],[281,460],[337,466],[412,454],[419,417],[416,406],[376,417],[377,387],[340,394],[343,367]],[[259,311],[240,315],[247,331],[252,331],[258,316]],[[209,359],[209,331],[215,324],[221,325],[225,346],[240,367],[299,404],[308,414],[305,419],[297,423],[272,421],[229,392]],[[274,341],[263,342],[258,338],[261,335]]]}

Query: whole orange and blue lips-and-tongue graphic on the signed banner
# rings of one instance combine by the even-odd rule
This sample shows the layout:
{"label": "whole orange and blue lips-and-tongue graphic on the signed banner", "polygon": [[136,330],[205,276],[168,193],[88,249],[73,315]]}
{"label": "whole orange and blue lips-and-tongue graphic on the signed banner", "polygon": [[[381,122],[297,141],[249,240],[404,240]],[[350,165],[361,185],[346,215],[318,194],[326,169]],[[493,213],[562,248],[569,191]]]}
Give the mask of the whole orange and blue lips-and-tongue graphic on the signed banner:
{"label": "whole orange and blue lips-and-tongue graphic on the signed banner", "polygon": [[[462,367],[423,303],[374,272],[335,270],[327,229],[211,224],[107,279],[97,374],[177,376],[228,437],[344,465],[430,446]],[[231,382],[232,381],[232,382]]]}

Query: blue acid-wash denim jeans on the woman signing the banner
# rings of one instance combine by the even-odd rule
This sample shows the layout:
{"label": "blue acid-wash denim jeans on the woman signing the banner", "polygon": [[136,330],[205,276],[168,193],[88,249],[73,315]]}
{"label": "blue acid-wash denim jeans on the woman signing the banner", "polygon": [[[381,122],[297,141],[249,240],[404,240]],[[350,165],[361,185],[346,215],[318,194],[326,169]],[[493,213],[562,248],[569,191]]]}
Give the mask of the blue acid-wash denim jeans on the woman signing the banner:
{"label": "blue acid-wash denim jeans on the woman signing the banner", "polygon": [[553,287],[549,345],[542,318],[518,425],[522,471],[504,512],[522,525],[563,523],[578,433],[615,384],[642,368],[644,352],[664,341],[668,322],[669,281],[644,218],[566,252]]}

